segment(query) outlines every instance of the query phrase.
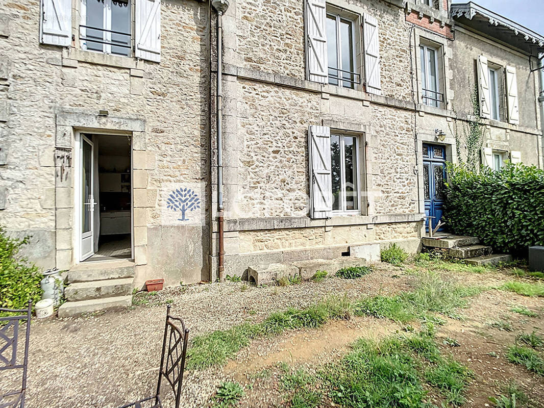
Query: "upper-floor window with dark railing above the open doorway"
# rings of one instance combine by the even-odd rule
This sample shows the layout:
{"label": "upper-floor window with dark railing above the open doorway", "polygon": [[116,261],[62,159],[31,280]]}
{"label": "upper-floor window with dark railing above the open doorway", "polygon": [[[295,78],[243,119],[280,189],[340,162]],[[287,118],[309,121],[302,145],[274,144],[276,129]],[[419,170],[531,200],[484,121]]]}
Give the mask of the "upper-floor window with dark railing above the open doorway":
{"label": "upper-floor window with dark railing above the open doorway", "polygon": [[79,40],[83,50],[130,55],[131,3],[128,0],[82,0]]}

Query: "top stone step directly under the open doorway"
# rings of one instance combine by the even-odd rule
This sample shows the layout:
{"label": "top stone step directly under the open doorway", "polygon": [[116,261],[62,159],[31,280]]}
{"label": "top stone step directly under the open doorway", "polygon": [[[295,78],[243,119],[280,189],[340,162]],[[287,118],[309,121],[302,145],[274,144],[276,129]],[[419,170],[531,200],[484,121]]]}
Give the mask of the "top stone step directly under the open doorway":
{"label": "top stone step directly under the open doorway", "polygon": [[134,262],[85,262],[68,271],[68,283],[103,281],[107,279],[123,279],[134,277]]}

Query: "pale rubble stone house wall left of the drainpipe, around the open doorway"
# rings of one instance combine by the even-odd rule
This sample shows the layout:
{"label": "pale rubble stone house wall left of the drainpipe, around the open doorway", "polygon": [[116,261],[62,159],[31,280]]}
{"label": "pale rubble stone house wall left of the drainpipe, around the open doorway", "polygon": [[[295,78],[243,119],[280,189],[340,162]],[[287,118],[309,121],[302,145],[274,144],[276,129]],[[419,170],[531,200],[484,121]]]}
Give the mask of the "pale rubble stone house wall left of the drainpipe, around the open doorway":
{"label": "pale rubble stone house wall left of the drainpipe, around the open doorway", "polygon": [[[133,137],[136,282],[207,279],[207,4],[162,2],[160,64],[39,45],[36,2],[5,3],[1,13],[0,147],[7,164],[0,168],[0,190],[7,200],[0,224],[32,236],[27,254],[33,261],[70,268],[73,169],[59,180],[55,145],[72,153],[73,126],[124,129]],[[109,116],[99,118],[100,109]],[[172,220],[164,207],[169,189],[183,186],[200,186],[202,193],[202,211],[190,225]]]}

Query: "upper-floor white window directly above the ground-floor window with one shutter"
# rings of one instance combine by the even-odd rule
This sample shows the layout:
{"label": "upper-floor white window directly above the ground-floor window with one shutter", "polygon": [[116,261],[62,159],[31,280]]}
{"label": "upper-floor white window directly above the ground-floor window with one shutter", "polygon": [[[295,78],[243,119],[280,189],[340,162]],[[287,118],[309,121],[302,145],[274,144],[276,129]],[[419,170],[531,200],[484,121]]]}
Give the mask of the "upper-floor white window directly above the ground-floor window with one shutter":
{"label": "upper-floor white window directly above the ground-floor window with one shutter", "polygon": [[354,22],[327,13],[329,84],[353,88],[360,82],[355,71]]}

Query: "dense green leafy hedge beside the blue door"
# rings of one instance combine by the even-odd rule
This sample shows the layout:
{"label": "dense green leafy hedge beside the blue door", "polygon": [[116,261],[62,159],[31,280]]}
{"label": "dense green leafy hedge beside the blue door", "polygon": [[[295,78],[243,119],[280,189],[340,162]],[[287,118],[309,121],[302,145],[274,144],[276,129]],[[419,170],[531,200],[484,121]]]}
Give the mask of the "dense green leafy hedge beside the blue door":
{"label": "dense green leafy hedge beside the blue door", "polygon": [[544,245],[544,171],[507,164],[473,172],[450,164],[448,176],[444,219],[451,232],[515,254]]}

